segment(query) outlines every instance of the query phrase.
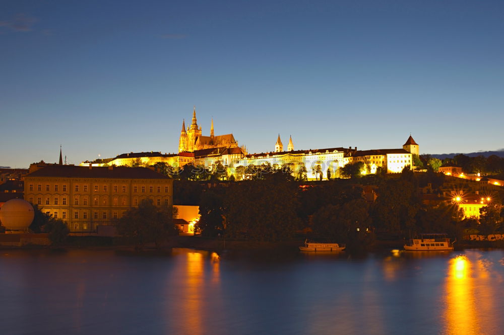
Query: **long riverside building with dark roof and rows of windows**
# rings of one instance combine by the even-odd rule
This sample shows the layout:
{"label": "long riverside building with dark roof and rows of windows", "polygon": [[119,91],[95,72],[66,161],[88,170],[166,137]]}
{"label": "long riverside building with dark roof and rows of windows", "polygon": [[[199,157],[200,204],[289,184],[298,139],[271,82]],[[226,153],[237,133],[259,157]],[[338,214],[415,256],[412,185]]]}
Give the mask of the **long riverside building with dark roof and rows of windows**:
{"label": "long riverside building with dark roof and rows of windows", "polygon": [[147,167],[30,166],[25,200],[64,220],[71,232],[111,225],[144,199],[173,205],[173,180]]}

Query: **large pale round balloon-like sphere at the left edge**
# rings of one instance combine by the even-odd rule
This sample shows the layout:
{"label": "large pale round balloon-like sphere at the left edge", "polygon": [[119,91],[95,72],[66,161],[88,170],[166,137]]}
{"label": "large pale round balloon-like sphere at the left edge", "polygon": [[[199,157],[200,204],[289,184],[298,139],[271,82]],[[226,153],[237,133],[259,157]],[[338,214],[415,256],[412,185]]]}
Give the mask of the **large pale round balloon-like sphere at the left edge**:
{"label": "large pale round balloon-like sphere at the left edge", "polygon": [[10,230],[26,230],[34,216],[33,206],[23,199],[11,199],[0,208],[0,221]]}

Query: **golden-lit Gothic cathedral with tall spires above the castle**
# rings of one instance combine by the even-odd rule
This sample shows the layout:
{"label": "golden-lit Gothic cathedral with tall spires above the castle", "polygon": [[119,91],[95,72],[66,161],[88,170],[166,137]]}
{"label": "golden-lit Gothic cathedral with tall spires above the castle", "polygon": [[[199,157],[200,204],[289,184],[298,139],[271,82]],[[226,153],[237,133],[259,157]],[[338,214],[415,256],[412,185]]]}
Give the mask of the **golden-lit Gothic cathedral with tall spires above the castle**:
{"label": "golden-lit Gothic cathedral with tall spires above the castle", "polygon": [[191,126],[185,128],[185,120],[182,121],[182,131],[178,140],[178,152],[194,152],[202,149],[213,148],[236,148],[238,142],[234,139],[233,134],[214,135],[214,120],[210,127],[210,136],[203,136],[201,126],[196,122],[196,106],[193,110],[193,120]]}

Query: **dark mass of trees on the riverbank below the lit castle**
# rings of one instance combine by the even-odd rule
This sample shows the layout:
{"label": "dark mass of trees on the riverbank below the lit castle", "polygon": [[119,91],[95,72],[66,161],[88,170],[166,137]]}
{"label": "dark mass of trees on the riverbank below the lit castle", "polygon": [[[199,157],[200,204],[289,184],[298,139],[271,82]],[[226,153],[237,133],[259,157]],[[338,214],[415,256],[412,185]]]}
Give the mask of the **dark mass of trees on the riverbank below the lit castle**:
{"label": "dark mass of trees on the riverbank below the lit castle", "polygon": [[[198,228],[211,237],[279,241],[306,235],[356,247],[372,244],[376,236],[446,232],[462,238],[465,233],[502,231],[498,195],[484,207],[479,222],[463,219],[455,204],[423,204],[421,187],[439,187],[443,179],[405,169],[396,175],[303,183],[277,172],[261,180],[200,189]],[[376,201],[364,200],[364,184],[377,186]]]}

